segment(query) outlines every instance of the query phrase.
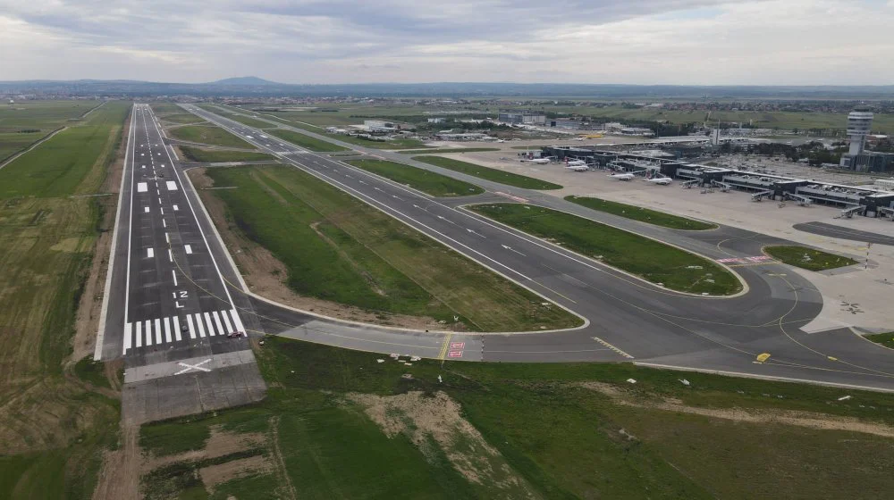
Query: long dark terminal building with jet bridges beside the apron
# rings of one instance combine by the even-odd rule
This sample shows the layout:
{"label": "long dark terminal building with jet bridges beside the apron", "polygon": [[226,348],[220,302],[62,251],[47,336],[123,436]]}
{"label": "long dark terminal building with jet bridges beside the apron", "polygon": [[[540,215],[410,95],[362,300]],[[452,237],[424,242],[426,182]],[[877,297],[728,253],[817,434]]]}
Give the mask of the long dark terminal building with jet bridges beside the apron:
{"label": "long dark terminal building with jet bridges beside the apron", "polygon": [[751,193],[755,201],[767,198],[792,200],[801,204],[830,204],[843,208],[842,213],[848,217],[853,213],[894,217],[894,192],[876,187],[795,179],[587,146],[547,146],[541,155],[560,161],[582,160],[591,168],[628,171],[644,177],[661,174],[680,179],[687,186],[742,190]]}

